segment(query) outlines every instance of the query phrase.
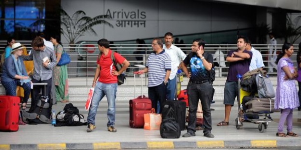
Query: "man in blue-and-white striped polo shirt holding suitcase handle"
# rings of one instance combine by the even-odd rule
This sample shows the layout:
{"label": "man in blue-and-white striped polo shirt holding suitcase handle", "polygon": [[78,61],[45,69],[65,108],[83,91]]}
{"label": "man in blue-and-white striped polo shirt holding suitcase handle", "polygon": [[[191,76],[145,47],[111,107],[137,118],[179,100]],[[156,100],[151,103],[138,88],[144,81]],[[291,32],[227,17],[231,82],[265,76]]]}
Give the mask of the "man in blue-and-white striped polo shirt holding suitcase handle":
{"label": "man in blue-and-white striped polo shirt holding suitcase handle", "polygon": [[135,73],[142,74],[148,72],[148,97],[152,100],[152,107],[157,112],[158,101],[160,101],[161,106],[166,101],[166,84],[171,74],[172,61],[171,57],[163,49],[161,38],[154,38],[152,47],[154,52],[148,56],[145,68]]}

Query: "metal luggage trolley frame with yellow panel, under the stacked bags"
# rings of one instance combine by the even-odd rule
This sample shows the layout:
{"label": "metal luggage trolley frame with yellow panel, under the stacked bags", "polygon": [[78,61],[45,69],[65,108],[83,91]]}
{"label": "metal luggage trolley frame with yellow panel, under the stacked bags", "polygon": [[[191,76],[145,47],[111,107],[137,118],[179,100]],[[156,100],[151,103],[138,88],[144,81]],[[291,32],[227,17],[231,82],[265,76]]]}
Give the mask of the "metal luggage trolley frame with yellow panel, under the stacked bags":
{"label": "metal luggage trolley frame with yellow panel, under the stacked bags", "polygon": [[[273,119],[270,116],[270,113],[273,113],[272,111],[259,111],[259,112],[244,112],[242,110],[242,98],[244,96],[250,95],[250,92],[244,91],[241,88],[240,81],[242,76],[238,74],[236,76],[238,78],[238,97],[239,99],[237,100],[238,102],[238,110],[237,110],[237,118],[235,119],[235,125],[236,128],[239,129],[241,126],[243,126],[243,121],[241,121],[239,118],[243,118],[244,120],[247,120],[248,122],[251,123],[258,123],[258,130],[259,132],[265,132],[268,123],[273,121]],[[240,111],[242,110],[242,111]],[[249,118],[250,116],[257,115],[257,119]],[[248,117],[249,116],[249,117]]]}

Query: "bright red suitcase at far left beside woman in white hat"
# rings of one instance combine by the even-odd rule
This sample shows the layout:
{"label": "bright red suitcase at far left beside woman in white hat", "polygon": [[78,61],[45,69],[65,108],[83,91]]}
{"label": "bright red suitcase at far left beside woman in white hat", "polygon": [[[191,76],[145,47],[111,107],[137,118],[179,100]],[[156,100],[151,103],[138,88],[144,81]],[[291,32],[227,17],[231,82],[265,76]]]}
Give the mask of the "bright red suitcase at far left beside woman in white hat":
{"label": "bright red suitcase at far left beside woman in white hat", "polygon": [[0,130],[17,131],[19,129],[20,97],[0,96]]}

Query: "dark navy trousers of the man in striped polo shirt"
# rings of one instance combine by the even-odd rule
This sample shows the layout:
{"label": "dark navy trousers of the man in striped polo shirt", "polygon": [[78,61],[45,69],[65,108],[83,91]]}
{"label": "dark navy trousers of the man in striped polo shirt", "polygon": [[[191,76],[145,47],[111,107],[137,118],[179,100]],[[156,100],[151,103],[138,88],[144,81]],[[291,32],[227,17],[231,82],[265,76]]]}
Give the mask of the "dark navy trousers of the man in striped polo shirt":
{"label": "dark navy trousers of the man in striped polo shirt", "polygon": [[[148,97],[152,100],[152,107],[158,112],[157,104],[160,102],[160,107],[162,108],[162,103],[166,101],[166,85],[164,82],[158,86],[148,87]],[[161,113],[159,110],[159,113]]]}

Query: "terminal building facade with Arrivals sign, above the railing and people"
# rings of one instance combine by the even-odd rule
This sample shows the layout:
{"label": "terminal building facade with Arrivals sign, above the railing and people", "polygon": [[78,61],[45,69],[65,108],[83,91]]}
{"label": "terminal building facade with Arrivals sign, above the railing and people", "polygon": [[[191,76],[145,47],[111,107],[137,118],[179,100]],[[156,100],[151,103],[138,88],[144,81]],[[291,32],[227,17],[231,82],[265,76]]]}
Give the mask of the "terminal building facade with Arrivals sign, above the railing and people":
{"label": "terminal building facade with Arrivals sign, above the railing and people", "polygon": [[[134,43],[170,31],[184,41],[201,37],[207,43],[235,43],[237,34],[265,44],[266,33],[286,34],[289,17],[299,26],[299,0],[1,0],[0,40],[14,36],[31,40],[39,31],[60,34],[60,6],[70,16],[82,10],[86,16],[110,15],[111,24],[93,26],[97,35],[85,33],[78,41]],[[281,39],[281,40],[284,40]],[[62,36],[62,42],[68,40]]]}

